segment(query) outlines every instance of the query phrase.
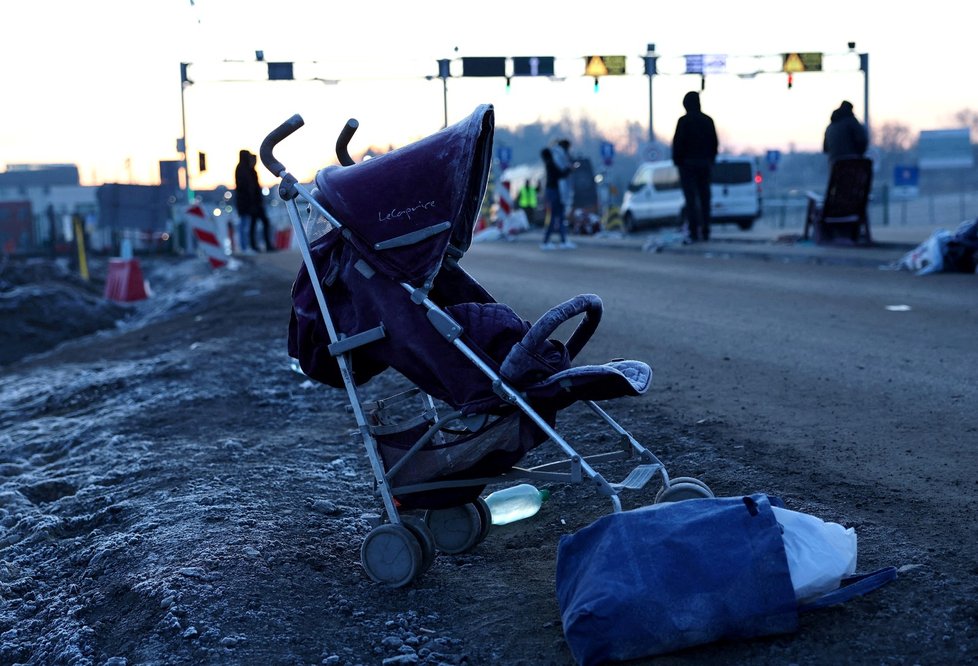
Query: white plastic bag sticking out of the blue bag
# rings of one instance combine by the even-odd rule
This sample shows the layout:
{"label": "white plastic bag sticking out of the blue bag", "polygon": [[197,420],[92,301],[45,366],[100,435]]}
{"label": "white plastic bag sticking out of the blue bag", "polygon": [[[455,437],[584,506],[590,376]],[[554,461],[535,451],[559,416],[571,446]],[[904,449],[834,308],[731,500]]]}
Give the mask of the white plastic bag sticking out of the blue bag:
{"label": "white plastic bag sticking out of the blue bag", "polygon": [[856,571],[856,531],[807,513],[772,506],[784,529],[788,573],[798,603],[839,587]]}

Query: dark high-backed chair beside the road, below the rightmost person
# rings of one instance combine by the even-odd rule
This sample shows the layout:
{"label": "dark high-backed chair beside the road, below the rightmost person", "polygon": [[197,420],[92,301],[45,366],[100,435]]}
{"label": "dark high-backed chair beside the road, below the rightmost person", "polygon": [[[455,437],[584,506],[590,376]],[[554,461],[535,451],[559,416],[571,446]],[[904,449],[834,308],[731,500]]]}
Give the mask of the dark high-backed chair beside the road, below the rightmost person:
{"label": "dark high-backed chair beside the road, below the rightmost person", "polygon": [[873,185],[873,162],[866,157],[842,157],[832,164],[825,196],[806,192],[807,239],[812,230],[816,243],[846,242],[872,244],[869,232],[869,194]]}

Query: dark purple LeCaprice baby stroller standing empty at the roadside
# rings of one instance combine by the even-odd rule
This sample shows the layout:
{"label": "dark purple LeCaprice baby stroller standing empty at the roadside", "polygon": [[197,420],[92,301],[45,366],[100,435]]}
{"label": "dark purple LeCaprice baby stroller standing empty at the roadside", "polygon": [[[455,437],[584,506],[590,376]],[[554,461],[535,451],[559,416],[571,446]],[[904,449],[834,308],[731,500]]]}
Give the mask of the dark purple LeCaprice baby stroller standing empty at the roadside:
{"label": "dark purple LeCaprice baby stroller standing empty at the roadside", "polygon": [[[383,502],[360,549],[370,578],[407,585],[436,551],[463,553],[485,539],[491,515],[480,494],[490,484],[589,483],[614,511],[621,511],[619,493],[657,477],[656,501],[713,496],[697,479],[670,480],[597,404],[645,393],[647,364],[571,366],[600,321],[598,296],[576,296],[531,325],[459,265],[486,192],[491,105],[360,163],[348,152],[358,126],[351,119],[336,143],[340,165],[321,169],[311,190],[273,155],[302,125],[295,115],[261,145],[262,162],[281,178],[279,195],[303,259],[292,287],[288,350],[306,375],[349,398]],[[551,339],[577,317],[566,342]],[[366,400],[361,387],[388,368],[411,388]],[[557,413],[575,403],[616,433],[613,450],[582,455],[557,432]],[[546,442],[562,457],[517,466]],[[618,483],[595,469],[627,459],[637,464]]]}

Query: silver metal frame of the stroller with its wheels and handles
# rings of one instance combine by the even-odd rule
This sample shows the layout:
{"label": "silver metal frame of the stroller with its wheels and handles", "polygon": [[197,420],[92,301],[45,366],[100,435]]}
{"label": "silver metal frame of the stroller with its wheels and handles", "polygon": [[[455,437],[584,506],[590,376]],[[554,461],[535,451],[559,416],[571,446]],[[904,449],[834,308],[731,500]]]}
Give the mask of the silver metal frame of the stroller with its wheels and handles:
{"label": "silver metal frame of the stroller with its wheels and handles", "polygon": [[[333,229],[342,230],[345,225],[317,201],[314,193],[299,183],[273,154],[275,146],[302,127],[303,124],[304,121],[298,114],[282,123],[282,125],[269,133],[262,142],[260,156],[265,167],[281,181],[279,185],[279,196],[285,202],[286,211],[298,241],[299,251],[302,255],[304,266],[309,273],[316,302],[329,335],[331,343],[329,345],[329,352],[338,364],[343,385],[350,402],[350,408],[357,423],[357,432],[367,451],[370,468],[374,475],[375,494],[379,495],[383,502],[386,521],[383,517],[379,517],[375,521],[373,530],[364,540],[361,548],[361,559],[366,572],[371,578],[376,582],[390,587],[407,585],[431,565],[435,549],[450,554],[465,552],[474,547],[474,545],[484,539],[488,534],[491,517],[488,506],[481,497],[477,498],[473,506],[466,505],[465,507],[448,509],[430,509],[425,513],[424,520],[418,520],[414,516],[402,515],[403,510],[399,509],[399,503],[396,499],[399,495],[403,496],[430,490],[464,486],[486,486],[514,479],[570,484],[586,481],[592,483],[601,495],[604,495],[611,501],[614,512],[619,512],[622,510],[621,500],[618,496],[619,492],[622,490],[641,489],[652,478],[658,475],[662,479],[662,487],[656,496],[657,502],[713,496],[709,487],[698,479],[691,477],[670,479],[665,465],[648,448],[639,443],[625,428],[619,425],[594,400],[579,400],[578,402],[583,402],[601,421],[617,433],[619,436],[618,448],[616,450],[591,455],[581,455],[578,453],[557,432],[556,428],[551,426],[534,409],[518,390],[513,388],[499,373],[486,364],[479,354],[461,339],[462,327],[449,314],[437,303],[429,299],[424,290],[404,281],[399,282],[400,286],[407,292],[409,298],[414,303],[425,309],[429,322],[441,337],[453,345],[489,379],[492,383],[493,392],[502,401],[515,407],[520,413],[529,418],[546,435],[547,440],[544,441],[551,441],[556,444],[566,457],[562,460],[555,460],[533,467],[519,467],[514,465],[503,474],[489,477],[396,485],[394,479],[397,473],[408,465],[430,441],[441,441],[443,430],[446,426],[460,421],[465,422],[466,419],[489,419],[490,416],[477,415],[476,417],[466,417],[457,410],[439,416],[432,396],[418,387],[373,402],[366,402],[361,398],[360,391],[351,372],[351,353],[363,345],[383,338],[385,331],[383,330],[383,325],[381,325],[375,329],[344,337],[338,333],[330,315],[326,294],[322,287],[321,276],[317,272],[310,250],[310,240],[306,232],[302,212],[299,208],[299,201],[308,206],[307,221],[314,216],[319,216]],[[358,123],[356,120],[349,120],[337,139],[336,153],[340,164],[343,166],[354,164],[354,161],[349,156],[347,146],[357,127]],[[446,255],[446,261],[451,260],[453,258],[448,253]],[[581,313],[578,312],[576,314]],[[586,319],[588,313],[584,312],[583,314],[585,314]],[[579,329],[583,326],[584,323],[582,322],[579,325]],[[590,335],[590,333],[587,335]],[[376,424],[371,424],[371,420],[368,418],[368,409],[385,407],[395,402],[409,399],[412,396],[420,398],[422,414],[427,423],[430,424],[430,427],[407,450],[400,460],[391,465],[389,469],[385,469],[378,441],[373,432]],[[593,466],[593,464],[609,461],[626,460],[633,456],[638,457],[639,464],[619,483],[608,482]],[[453,537],[452,533],[458,532],[460,525],[466,527],[470,534],[467,534],[459,540]],[[403,554],[398,555],[398,553]]]}

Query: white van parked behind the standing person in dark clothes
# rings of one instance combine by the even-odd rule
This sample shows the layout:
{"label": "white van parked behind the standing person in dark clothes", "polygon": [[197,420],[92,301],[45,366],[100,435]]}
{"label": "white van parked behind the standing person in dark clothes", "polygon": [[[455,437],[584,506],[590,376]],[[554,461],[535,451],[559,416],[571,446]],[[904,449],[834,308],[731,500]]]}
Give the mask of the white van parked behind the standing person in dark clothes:
{"label": "white van parked behind the standing person in dark clothes", "polygon": [[[712,224],[736,224],[743,230],[761,216],[761,173],[751,157],[721,155],[713,166]],[[686,201],[679,169],[671,160],[643,162],[632,176],[621,206],[625,228],[676,226],[685,220]]]}

